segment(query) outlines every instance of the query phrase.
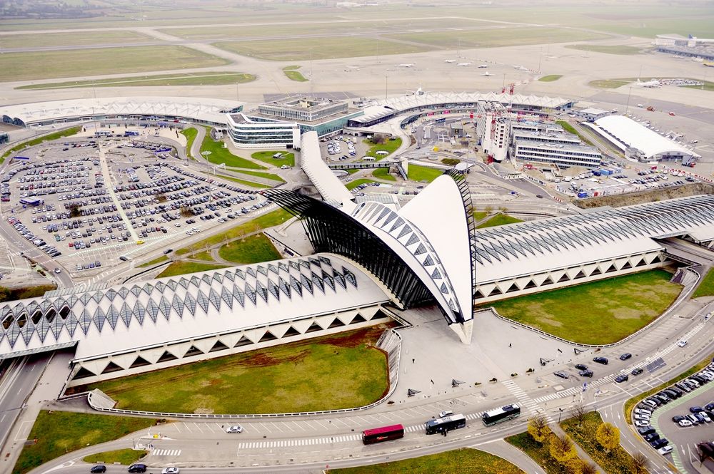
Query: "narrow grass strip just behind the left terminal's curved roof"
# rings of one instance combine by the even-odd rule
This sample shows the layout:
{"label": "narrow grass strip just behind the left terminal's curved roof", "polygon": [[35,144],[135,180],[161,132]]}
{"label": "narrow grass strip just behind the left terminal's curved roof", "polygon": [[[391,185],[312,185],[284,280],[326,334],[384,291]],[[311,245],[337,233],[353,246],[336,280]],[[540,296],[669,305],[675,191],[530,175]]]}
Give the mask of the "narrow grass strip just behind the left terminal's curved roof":
{"label": "narrow grass strip just behind the left terminal's curved roof", "polygon": [[224,86],[226,84],[255,81],[256,76],[246,73],[180,73],[163,76],[131,76],[125,78],[99,79],[98,81],[66,81],[30,84],[16,89],[66,89],[81,87],[128,87],[128,86]]}

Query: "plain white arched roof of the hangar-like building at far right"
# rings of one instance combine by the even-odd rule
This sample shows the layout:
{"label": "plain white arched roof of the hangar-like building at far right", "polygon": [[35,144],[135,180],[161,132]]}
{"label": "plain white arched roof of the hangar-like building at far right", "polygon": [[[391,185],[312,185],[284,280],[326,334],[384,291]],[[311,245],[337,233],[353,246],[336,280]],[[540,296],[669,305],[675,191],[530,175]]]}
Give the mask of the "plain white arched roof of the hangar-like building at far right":
{"label": "plain white arched roof of the hangar-like building at far right", "polygon": [[617,140],[622,145],[621,148],[623,150],[627,147],[637,148],[647,158],[656,158],[657,155],[668,153],[699,156],[692,150],[623,115],[609,115],[608,117],[598,118],[598,120],[595,120],[595,125]]}

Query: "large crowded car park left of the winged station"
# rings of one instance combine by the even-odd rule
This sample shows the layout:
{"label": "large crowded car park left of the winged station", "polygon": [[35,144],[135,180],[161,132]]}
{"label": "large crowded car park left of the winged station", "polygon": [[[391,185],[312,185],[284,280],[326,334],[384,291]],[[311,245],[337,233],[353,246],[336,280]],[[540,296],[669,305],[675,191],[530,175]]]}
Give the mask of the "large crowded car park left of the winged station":
{"label": "large crowded car park left of the winged station", "polygon": [[267,205],[253,190],[194,172],[150,140],[75,139],[24,150],[26,159],[0,177],[9,224],[73,277],[93,277],[121,256],[132,259]]}

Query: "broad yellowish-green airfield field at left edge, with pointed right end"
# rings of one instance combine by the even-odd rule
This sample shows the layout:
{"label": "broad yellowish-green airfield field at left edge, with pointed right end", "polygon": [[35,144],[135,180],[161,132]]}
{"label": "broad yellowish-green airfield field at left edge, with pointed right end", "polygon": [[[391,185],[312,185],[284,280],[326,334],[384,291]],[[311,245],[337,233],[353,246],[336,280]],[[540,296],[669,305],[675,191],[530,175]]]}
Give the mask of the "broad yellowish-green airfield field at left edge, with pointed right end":
{"label": "broad yellowish-green airfield field at left edge, with pointed right end", "polygon": [[99,74],[143,73],[166,69],[223,66],[228,61],[185,46],[30,51],[0,54],[0,82]]}

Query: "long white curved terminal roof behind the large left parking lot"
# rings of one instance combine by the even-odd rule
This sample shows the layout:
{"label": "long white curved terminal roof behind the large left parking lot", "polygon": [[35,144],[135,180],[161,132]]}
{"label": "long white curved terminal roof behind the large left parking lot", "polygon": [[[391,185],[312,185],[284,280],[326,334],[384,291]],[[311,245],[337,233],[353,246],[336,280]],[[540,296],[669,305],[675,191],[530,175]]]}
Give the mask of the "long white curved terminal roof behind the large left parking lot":
{"label": "long white curved terminal roof behind the large left parking lot", "polygon": [[169,115],[226,123],[224,113],[238,110],[242,102],[191,97],[106,97],[68,99],[5,105],[0,115],[26,124],[91,115]]}

